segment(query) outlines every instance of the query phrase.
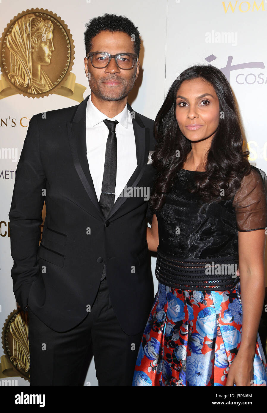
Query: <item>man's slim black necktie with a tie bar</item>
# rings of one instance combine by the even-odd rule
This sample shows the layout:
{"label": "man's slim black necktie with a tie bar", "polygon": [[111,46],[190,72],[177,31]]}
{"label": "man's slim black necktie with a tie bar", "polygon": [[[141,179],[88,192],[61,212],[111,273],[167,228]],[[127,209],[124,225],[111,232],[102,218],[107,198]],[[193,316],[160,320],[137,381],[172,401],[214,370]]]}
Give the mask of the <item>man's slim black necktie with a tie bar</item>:
{"label": "man's slim black necktie with a tie bar", "polygon": [[115,199],[116,175],[117,175],[117,136],[115,127],[118,121],[103,121],[110,131],[107,137],[105,166],[102,182],[102,192],[99,199],[99,205],[103,215],[107,218]]}

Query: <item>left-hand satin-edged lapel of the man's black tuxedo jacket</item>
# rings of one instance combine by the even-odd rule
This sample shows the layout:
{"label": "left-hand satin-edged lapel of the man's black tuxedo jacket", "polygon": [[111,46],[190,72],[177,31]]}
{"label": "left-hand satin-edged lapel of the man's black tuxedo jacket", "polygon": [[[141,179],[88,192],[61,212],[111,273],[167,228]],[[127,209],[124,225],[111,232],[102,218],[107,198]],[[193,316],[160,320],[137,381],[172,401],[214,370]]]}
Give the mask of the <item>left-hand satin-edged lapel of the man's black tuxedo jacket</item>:
{"label": "left-hand satin-edged lapel of the man's black tuxedo jacket", "polygon": [[88,97],[84,99],[78,106],[73,121],[66,122],[69,138],[69,145],[72,152],[75,169],[81,179],[81,182],[95,206],[96,213],[103,220],[105,219],[93,184],[91,173],[89,170],[88,159],[86,155],[86,105]]}

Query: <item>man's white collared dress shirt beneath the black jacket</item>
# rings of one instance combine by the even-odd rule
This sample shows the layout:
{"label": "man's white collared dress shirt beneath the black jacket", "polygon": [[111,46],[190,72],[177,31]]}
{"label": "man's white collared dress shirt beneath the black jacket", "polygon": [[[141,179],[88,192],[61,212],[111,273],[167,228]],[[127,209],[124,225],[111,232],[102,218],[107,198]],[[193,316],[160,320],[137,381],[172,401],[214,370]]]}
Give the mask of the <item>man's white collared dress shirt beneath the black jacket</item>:
{"label": "man's white collared dress shirt beneath the black jacket", "polygon": [[98,202],[102,192],[106,144],[109,134],[109,130],[103,122],[105,119],[119,122],[115,128],[117,136],[117,176],[114,202],[116,202],[116,199],[137,167],[131,112],[126,104],[122,112],[114,116],[114,118],[108,118],[95,107],[90,95],[86,107],[86,150],[89,170]]}

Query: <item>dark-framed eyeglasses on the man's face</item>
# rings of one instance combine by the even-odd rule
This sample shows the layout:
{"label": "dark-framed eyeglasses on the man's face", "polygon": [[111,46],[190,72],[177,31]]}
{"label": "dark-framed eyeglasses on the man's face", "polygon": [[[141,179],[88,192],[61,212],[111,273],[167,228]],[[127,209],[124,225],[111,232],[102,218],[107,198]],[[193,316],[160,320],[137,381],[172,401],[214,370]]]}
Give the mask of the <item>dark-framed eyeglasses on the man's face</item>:
{"label": "dark-framed eyeglasses on the man's face", "polygon": [[91,59],[93,67],[97,69],[104,69],[110,63],[110,59],[114,57],[117,66],[120,69],[129,70],[134,67],[134,62],[137,62],[137,56],[134,53],[119,53],[117,55],[110,55],[110,53],[104,52],[90,52],[88,53],[87,60]]}

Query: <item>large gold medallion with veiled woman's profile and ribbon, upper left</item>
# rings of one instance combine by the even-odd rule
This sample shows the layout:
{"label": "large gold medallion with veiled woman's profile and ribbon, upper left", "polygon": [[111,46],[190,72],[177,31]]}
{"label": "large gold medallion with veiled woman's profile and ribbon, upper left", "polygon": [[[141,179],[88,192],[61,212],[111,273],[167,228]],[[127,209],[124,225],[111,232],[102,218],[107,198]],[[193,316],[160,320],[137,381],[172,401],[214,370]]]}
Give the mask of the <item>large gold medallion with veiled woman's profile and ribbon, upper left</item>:
{"label": "large gold medallion with veiled woman's profile and ribbon, upper left", "polygon": [[[44,9],[27,9],[18,14],[10,20],[0,40],[0,67],[4,75],[0,80],[0,97],[15,93],[44,97],[57,93],[81,102],[86,88],[75,84],[75,75],[71,73],[74,53],[69,28],[57,14]],[[77,93],[78,99],[72,96]]]}

